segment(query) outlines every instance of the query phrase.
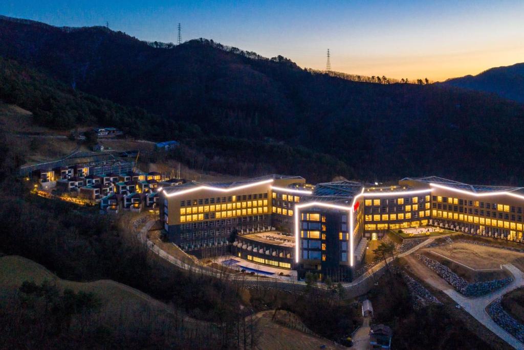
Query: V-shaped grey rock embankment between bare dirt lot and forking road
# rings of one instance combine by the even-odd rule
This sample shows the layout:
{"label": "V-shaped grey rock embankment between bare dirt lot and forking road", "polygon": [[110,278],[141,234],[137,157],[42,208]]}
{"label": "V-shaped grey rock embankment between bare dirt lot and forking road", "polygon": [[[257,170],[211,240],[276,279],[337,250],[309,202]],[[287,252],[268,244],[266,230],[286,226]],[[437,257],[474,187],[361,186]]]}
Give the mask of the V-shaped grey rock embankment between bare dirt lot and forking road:
{"label": "V-shaped grey rock embankment between bare dirt lot and forking road", "polygon": [[468,283],[464,278],[455,274],[449,267],[442,265],[436,260],[430,259],[421,254],[417,254],[417,258],[466,297],[475,298],[486,295],[487,293],[504,287],[513,281],[513,277],[507,277],[504,279],[494,279],[485,282]]}

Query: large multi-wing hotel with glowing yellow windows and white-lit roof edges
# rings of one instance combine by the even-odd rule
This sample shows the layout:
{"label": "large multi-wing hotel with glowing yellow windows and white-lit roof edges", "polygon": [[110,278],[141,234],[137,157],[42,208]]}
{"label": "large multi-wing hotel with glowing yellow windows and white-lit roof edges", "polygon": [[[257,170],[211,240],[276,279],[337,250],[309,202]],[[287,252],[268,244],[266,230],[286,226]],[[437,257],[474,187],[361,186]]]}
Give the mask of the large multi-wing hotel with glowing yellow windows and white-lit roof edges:
{"label": "large multi-wing hotel with glowing yellow windows and white-lit roof edges", "polygon": [[159,203],[169,239],[190,254],[232,254],[333,280],[352,280],[367,242],[389,230],[433,225],[515,241],[524,231],[524,188],[435,176],[380,186],[312,186],[282,175],[194,182],[163,189]]}

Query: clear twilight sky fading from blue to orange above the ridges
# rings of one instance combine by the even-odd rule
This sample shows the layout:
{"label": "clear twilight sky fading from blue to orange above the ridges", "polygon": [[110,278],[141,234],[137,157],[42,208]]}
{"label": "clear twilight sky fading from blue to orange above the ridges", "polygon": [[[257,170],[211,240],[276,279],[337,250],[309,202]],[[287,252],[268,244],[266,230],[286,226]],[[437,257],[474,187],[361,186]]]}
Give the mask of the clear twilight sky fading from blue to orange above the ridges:
{"label": "clear twilight sky fading from blue to orange above the ridges", "polygon": [[477,74],[524,62],[524,1],[30,1],[2,0],[0,14],[56,26],[110,23],[142,40],[208,38],[281,54],[300,66],[353,74]]}

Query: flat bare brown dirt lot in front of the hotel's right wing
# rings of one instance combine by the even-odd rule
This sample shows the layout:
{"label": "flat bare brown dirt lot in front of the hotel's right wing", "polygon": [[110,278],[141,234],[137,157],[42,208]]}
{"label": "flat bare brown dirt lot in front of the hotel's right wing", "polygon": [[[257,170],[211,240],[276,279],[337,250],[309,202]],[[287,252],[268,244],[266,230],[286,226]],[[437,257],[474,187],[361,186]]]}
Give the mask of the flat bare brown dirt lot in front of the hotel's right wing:
{"label": "flat bare brown dirt lot in front of the hotel's right wing", "polygon": [[508,274],[501,265],[512,263],[520,268],[520,261],[524,259],[523,253],[464,242],[424,248],[419,253],[439,261],[470,282],[505,278]]}

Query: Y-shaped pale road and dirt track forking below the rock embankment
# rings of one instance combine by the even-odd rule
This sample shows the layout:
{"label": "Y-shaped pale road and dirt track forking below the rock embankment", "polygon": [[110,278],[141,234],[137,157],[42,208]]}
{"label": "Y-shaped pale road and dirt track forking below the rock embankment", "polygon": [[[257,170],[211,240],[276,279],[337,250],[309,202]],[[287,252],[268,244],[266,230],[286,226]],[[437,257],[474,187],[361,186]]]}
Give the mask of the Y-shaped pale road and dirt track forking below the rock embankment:
{"label": "Y-shaped pale road and dirt track forking below the rock embankment", "polygon": [[465,311],[470,313],[478,322],[482,323],[487,329],[498,335],[502,340],[516,349],[524,349],[524,344],[519,342],[517,338],[506,332],[501,328],[486,312],[486,307],[495,299],[505,295],[506,293],[524,285],[524,273],[512,264],[503,265],[514,276],[515,280],[509,285],[500,288],[493,293],[489,293],[483,297],[466,298],[455,289],[451,288],[442,278],[437,276],[432,270],[421,264],[414,257],[408,259],[413,272],[426,283],[434,288],[442,290],[459,304]]}

